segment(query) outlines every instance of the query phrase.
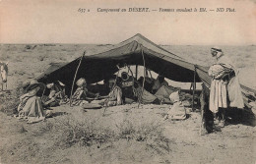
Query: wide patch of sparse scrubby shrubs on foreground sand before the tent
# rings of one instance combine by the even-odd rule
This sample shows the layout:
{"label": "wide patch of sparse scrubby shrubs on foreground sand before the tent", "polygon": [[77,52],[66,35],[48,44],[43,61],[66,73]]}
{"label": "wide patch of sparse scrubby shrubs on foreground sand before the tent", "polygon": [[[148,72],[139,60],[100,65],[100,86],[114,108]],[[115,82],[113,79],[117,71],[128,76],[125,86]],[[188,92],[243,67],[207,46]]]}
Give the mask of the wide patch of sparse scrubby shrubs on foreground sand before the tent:
{"label": "wide patch of sparse scrubby shrubs on foreground sand before the tent", "polygon": [[149,149],[158,153],[169,152],[169,139],[163,136],[163,128],[159,123],[144,124],[124,120],[116,127],[105,127],[103,123],[76,119],[65,116],[56,120],[54,132],[57,132],[58,145],[71,146],[78,143],[82,146],[103,144],[120,139],[145,142]]}

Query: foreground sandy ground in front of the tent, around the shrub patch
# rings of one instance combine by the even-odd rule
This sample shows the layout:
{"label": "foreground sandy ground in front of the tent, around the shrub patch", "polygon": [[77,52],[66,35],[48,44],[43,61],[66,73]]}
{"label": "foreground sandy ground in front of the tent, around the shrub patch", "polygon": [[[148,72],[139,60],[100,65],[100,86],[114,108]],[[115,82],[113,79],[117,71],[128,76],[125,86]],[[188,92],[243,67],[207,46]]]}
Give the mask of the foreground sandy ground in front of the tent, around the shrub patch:
{"label": "foreground sandy ground in front of the tent, around the shrub patch", "polygon": [[[61,106],[53,109],[55,117],[28,125],[0,113],[1,163],[240,163],[252,164],[256,160],[256,129],[248,117],[239,124],[229,124],[221,132],[200,136],[198,112],[190,112],[185,121],[163,121],[168,105],[123,105],[84,112],[80,107]],[[45,132],[48,124],[55,124],[64,116],[76,119],[96,119],[106,127],[114,127],[124,120],[134,125],[155,121],[164,129],[169,149],[156,152],[145,142],[119,139],[87,147],[56,145],[56,134]]]}

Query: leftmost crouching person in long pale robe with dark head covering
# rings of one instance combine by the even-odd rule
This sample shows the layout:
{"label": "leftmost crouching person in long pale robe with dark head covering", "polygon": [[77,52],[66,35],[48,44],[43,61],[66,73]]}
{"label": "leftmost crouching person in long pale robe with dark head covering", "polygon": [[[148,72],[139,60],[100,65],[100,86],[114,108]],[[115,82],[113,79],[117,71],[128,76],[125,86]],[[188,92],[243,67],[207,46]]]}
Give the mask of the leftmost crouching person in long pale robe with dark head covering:
{"label": "leftmost crouching person in long pale robe with dark head covering", "polygon": [[27,123],[43,121],[51,112],[43,111],[41,103],[41,93],[45,85],[33,80],[27,87],[25,94],[20,97],[18,106],[19,119],[28,120]]}

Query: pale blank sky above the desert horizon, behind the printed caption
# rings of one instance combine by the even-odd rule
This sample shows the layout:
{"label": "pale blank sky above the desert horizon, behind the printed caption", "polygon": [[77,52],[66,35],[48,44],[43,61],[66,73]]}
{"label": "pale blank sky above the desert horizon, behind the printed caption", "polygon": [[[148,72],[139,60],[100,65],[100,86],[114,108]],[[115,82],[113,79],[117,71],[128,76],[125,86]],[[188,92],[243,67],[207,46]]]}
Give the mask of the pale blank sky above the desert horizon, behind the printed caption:
{"label": "pale blank sky above the desert horizon, behind the printed caption", "polygon": [[[80,8],[87,12],[79,12]],[[151,12],[106,13],[97,8],[149,8]],[[208,12],[159,12],[160,8],[206,8]],[[235,12],[217,12],[217,8]],[[136,33],[157,44],[255,45],[256,2],[0,0],[0,43],[115,44]]]}

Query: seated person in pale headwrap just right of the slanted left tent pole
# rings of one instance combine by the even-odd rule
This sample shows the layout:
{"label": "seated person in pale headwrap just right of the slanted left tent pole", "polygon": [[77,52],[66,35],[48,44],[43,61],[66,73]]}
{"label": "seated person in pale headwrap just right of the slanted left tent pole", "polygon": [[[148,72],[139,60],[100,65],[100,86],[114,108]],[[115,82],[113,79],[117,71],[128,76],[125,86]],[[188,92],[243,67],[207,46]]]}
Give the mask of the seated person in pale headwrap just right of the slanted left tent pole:
{"label": "seated person in pale headwrap just right of the slanted left tent pole", "polygon": [[[83,105],[84,103],[89,103],[98,97],[98,93],[95,94],[87,89],[87,81],[84,78],[79,79],[76,84],[78,85],[78,88],[72,95],[72,105]],[[89,96],[93,96],[94,98]]]}

